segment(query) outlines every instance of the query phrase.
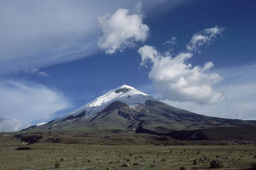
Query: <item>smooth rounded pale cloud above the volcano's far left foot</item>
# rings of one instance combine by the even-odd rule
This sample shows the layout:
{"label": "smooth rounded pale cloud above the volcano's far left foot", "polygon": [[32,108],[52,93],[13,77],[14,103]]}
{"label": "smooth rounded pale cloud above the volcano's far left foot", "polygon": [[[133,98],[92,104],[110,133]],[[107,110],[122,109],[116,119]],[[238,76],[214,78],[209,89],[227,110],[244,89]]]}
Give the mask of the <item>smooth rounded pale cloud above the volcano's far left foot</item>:
{"label": "smooth rounded pale cloud above the volcano's far left foot", "polygon": [[[71,102],[61,92],[44,85],[1,79],[0,117],[5,122],[28,123],[49,119],[58,111],[71,108]],[[15,128],[15,127],[13,127]]]}

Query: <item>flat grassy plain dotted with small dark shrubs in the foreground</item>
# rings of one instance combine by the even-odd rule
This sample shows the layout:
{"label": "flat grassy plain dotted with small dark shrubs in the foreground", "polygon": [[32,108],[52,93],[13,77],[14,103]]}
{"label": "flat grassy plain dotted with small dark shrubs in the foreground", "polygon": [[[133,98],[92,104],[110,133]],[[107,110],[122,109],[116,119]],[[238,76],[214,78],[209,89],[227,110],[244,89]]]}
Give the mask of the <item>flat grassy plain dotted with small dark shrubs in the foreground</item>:
{"label": "flat grassy plain dotted with small dark shrubs in the foreground", "polygon": [[[0,169],[65,170],[179,170],[209,169],[213,159],[223,170],[250,168],[256,161],[256,145],[227,146],[111,146],[35,143],[30,150],[0,151]],[[197,164],[193,164],[197,159]],[[128,166],[128,167],[123,167]],[[108,169],[108,170],[109,170]]]}

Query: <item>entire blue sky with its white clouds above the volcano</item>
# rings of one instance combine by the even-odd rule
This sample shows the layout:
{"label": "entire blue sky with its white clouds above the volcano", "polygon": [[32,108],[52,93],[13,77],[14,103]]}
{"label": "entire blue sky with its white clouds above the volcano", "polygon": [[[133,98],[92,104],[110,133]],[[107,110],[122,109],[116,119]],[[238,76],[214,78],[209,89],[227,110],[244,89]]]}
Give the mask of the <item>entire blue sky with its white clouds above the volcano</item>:
{"label": "entire blue sky with its white clouds above the volcano", "polygon": [[195,113],[256,119],[255,8],[253,0],[3,1],[0,131],[47,122],[123,84]]}

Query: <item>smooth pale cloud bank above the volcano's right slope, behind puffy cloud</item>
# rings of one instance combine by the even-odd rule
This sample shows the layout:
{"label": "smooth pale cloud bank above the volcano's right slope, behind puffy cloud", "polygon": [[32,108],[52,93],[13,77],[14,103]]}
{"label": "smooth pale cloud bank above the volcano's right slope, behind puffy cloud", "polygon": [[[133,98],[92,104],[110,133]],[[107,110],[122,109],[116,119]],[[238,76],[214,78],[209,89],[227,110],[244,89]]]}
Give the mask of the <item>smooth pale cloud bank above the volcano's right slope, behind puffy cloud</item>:
{"label": "smooth pale cloud bank above the volcano's right slope, behind puffy cloud", "polygon": [[211,105],[198,105],[195,102],[163,100],[169,105],[183,108],[207,116],[230,119],[256,119],[256,65],[237,66],[218,69],[225,83],[216,85],[216,89],[225,95],[225,99]]}

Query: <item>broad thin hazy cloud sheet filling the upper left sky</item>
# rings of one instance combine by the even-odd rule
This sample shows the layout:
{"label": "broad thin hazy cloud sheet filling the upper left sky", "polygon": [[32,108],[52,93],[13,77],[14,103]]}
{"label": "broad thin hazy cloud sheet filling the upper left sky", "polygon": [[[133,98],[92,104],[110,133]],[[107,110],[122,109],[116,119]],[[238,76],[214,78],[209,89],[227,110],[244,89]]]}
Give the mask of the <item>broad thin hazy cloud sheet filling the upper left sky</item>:
{"label": "broad thin hazy cloud sheet filling the upper left sky", "polygon": [[[132,8],[137,0],[29,0],[0,5],[0,75],[43,68],[88,57],[99,52],[98,17],[119,8]],[[141,0],[143,11],[172,8],[184,2]],[[134,14],[139,14],[135,8]],[[135,17],[136,15],[134,15]],[[140,15],[141,16],[141,15]],[[128,17],[129,18],[129,17]],[[130,44],[131,45],[131,44]]]}

